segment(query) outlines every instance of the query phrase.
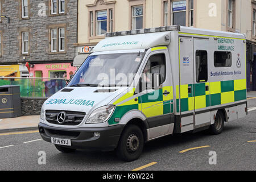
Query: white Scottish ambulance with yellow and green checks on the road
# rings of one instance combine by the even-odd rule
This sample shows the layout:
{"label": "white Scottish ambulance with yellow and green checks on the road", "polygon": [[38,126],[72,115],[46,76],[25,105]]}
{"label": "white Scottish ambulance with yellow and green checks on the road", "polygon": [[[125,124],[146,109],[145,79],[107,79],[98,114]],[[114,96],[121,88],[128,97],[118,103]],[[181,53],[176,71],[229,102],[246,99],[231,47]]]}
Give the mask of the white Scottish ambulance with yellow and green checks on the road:
{"label": "white Scottish ambulance with yellow and green checks on the road", "polygon": [[167,26],[105,34],[68,85],[42,106],[39,132],[61,152],[114,150],[208,130],[247,114],[243,34]]}

